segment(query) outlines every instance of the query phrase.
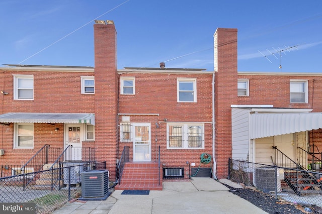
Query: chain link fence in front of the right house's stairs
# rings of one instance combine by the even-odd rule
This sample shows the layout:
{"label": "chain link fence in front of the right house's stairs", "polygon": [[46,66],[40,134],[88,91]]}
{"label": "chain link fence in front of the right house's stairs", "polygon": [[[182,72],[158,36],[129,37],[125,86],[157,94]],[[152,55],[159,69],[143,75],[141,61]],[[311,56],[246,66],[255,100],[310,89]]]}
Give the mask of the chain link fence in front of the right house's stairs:
{"label": "chain link fence in front of the right house's stairs", "polygon": [[228,179],[292,203],[322,207],[322,173],[229,159]]}

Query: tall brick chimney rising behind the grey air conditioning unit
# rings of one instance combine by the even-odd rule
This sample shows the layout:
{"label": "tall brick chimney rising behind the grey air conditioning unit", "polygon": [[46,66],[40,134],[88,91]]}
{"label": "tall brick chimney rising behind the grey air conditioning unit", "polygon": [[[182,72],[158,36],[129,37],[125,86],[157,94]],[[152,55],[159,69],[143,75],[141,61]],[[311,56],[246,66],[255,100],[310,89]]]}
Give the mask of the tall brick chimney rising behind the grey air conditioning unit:
{"label": "tall brick chimney rising behind the grey air conditioning unit", "polygon": [[116,179],[118,141],[118,76],[116,30],[113,21],[95,21],[95,147],[96,159],[106,161],[112,180]]}

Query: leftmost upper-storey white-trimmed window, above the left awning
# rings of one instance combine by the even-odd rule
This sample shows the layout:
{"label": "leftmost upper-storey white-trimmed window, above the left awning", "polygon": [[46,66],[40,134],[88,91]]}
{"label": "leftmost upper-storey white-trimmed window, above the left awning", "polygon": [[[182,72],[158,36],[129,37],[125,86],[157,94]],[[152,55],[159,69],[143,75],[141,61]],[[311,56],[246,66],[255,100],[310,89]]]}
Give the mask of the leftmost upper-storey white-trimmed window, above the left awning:
{"label": "leftmost upper-storey white-trimmed window, above the left awning", "polygon": [[34,76],[14,76],[14,99],[34,99]]}

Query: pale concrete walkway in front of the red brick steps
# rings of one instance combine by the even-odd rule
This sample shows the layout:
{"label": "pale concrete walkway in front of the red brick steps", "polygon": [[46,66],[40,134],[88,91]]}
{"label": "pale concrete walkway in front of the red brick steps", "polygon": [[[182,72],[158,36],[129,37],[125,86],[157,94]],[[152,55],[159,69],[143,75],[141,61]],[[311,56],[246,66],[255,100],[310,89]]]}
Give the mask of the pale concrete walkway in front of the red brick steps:
{"label": "pale concrete walkway in front of the red brick steps", "polygon": [[115,190],[104,201],[67,202],[53,213],[267,213],[211,178],[163,182],[162,191],[122,195]]}

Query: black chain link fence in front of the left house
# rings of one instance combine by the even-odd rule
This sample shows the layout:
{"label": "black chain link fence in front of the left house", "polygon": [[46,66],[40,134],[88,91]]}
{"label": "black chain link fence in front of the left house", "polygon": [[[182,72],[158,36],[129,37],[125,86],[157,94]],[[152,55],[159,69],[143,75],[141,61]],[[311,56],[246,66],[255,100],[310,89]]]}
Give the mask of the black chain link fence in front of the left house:
{"label": "black chain link fence in front of the left house", "polygon": [[[0,202],[33,202],[36,213],[50,213],[71,198],[82,195],[83,171],[106,169],[106,162],[62,165],[59,168],[0,178]],[[27,182],[29,185],[25,186]]]}

